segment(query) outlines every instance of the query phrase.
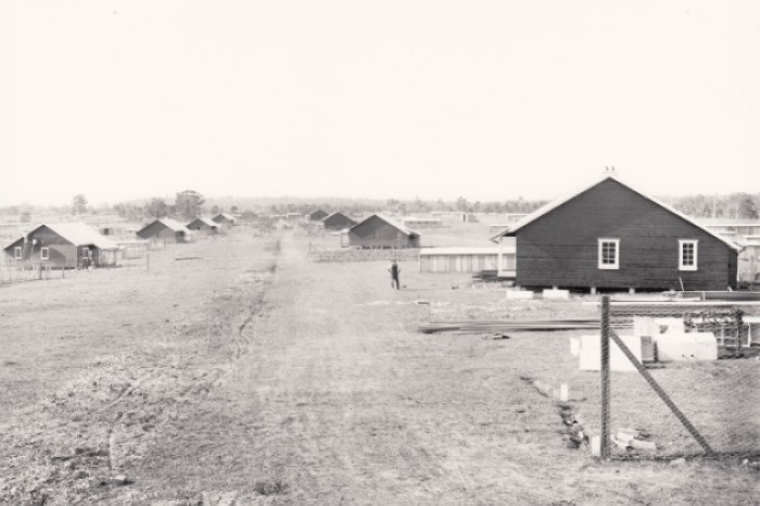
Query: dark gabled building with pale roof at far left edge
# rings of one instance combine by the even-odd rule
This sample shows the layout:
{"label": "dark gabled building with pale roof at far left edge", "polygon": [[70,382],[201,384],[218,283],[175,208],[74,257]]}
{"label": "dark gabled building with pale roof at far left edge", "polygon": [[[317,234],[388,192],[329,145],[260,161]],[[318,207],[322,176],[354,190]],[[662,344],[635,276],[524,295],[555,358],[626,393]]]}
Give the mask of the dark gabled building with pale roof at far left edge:
{"label": "dark gabled building with pale roof at far left edge", "polygon": [[83,223],[40,225],[7,245],[4,252],[10,262],[43,268],[112,266],[119,258],[115,242]]}

